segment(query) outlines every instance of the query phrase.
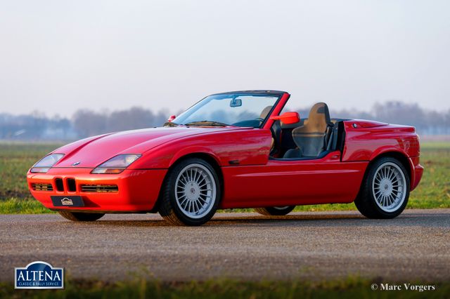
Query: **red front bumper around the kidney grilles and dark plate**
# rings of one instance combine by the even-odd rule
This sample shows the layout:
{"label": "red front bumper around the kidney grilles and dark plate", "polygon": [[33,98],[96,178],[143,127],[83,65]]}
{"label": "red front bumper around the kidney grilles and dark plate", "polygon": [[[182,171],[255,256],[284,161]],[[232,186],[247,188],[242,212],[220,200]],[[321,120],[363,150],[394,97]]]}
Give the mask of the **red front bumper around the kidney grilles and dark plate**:
{"label": "red front bumper around the kidney grilles and dark plate", "polygon": [[[35,199],[52,210],[146,212],[155,206],[167,173],[167,169],[126,169],[115,175],[91,174],[91,171],[91,168],[51,168],[47,173],[28,172],[28,188]],[[57,178],[63,182],[63,188],[59,188],[59,191],[56,186]],[[75,179],[75,191],[68,186],[68,179]],[[33,184],[51,184],[49,189],[53,190],[33,190]],[[82,185],[96,184],[117,185],[117,192],[82,191]],[[84,207],[55,207],[51,201],[53,195],[79,195],[84,201]]]}

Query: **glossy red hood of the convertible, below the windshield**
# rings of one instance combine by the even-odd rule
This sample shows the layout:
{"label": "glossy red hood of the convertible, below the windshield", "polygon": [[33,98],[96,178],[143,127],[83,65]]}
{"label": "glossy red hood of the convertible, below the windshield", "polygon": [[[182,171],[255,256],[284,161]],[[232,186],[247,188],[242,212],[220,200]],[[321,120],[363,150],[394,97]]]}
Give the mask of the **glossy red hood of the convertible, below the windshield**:
{"label": "glossy red hood of the convertible, below the windshield", "polygon": [[[239,130],[239,127],[162,127],[123,131],[86,138],[60,147],[65,154],[53,167],[95,168],[117,154],[143,154],[153,147],[191,135]],[[75,164],[75,165],[74,165]]]}

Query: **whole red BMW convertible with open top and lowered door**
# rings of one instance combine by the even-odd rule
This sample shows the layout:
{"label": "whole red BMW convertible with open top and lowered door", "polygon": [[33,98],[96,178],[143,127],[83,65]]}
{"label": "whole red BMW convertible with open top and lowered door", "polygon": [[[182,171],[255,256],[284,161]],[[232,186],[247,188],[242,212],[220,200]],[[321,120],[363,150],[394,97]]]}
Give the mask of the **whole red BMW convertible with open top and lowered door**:
{"label": "whole red BMW convertible with open top and lowered door", "polygon": [[160,213],[202,225],[218,208],[285,215],[296,205],[350,203],[394,218],[423,173],[415,128],[330,119],[319,102],[300,120],[283,91],[210,95],[160,128],[60,147],[27,174],[33,197],[75,221]]}

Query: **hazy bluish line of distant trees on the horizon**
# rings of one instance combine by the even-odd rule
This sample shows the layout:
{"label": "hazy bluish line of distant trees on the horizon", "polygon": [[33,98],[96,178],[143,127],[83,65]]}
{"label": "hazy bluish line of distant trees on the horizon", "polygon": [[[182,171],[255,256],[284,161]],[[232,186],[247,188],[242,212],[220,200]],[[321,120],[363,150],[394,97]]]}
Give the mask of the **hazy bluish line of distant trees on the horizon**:
{"label": "hazy bluish line of distant trees on the horizon", "polygon": [[[308,108],[296,109],[306,118]],[[390,101],[378,103],[369,112],[352,109],[330,110],[333,118],[355,118],[384,121],[389,124],[415,126],[423,135],[449,135],[450,109],[427,110],[415,103]],[[70,118],[47,117],[32,113],[12,115],[0,113],[0,139],[3,140],[75,140],[101,133],[162,126],[169,113],[131,107],[114,112],[79,109]]]}

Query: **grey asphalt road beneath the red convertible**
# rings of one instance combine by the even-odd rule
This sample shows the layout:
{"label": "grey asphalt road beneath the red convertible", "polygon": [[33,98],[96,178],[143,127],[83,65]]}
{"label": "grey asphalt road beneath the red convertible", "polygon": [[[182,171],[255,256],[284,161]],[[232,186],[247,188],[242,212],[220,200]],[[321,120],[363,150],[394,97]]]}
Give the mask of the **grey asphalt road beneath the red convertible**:
{"label": "grey asphalt road beneath the red convertible", "polygon": [[450,280],[450,209],[407,210],[394,220],[358,212],[218,213],[202,227],[159,215],[106,215],[89,223],[59,215],[0,215],[0,281],[44,260],[75,278],[143,276],[182,281],[330,279]]}

